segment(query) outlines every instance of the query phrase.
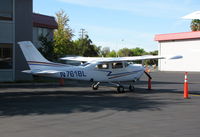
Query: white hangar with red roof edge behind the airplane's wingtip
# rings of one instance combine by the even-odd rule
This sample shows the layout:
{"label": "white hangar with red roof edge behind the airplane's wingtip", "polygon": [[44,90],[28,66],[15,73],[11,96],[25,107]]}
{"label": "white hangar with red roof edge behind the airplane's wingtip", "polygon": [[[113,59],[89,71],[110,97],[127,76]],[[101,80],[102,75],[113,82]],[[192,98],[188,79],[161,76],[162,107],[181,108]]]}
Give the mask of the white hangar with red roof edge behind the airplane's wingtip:
{"label": "white hangar with red roof edge behind the airplane's wingtip", "polygon": [[200,72],[200,31],[158,34],[159,55],[182,55],[182,59],[158,62],[160,71],[193,71]]}

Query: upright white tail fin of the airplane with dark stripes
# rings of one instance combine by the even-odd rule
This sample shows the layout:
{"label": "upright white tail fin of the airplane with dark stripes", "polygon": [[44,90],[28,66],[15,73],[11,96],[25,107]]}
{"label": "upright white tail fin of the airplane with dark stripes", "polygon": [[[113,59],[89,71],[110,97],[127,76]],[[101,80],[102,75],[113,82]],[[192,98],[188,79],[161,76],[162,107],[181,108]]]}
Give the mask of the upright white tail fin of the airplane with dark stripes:
{"label": "upright white tail fin of the airplane with dark stripes", "polygon": [[42,54],[36,49],[36,47],[33,45],[32,42],[22,41],[22,42],[18,42],[18,44],[31,70],[40,69],[39,66],[33,65],[33,63],[34,64],[50,63],[47,59],[45,59],[42,56]]}

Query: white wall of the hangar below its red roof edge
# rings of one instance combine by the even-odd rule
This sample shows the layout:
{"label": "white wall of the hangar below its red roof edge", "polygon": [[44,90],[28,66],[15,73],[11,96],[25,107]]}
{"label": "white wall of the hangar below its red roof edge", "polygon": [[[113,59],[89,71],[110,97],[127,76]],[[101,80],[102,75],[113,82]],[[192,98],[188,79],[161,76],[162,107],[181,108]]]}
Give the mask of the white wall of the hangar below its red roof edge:
{"label": "white wall of the hangar below its red roof edge", "polygon": [[161,71],[195,71],[200,72],[200,39],[175,40],[160,42],[160,55],[182,55],[178,60],[161,60]]}

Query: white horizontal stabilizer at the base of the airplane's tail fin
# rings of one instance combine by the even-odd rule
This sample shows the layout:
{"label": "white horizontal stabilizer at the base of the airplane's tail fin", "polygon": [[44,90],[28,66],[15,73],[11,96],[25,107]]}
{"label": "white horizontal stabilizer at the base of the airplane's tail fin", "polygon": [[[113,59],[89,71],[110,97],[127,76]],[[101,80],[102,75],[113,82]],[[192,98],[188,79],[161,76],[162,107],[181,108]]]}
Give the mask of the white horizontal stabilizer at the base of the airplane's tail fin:
{"label": "white horizontal stabilizer at the base of the airplane's tail fin", "polygon": [[22,71],[24,73],[33,74],[33,75],[51,75],[56,74],[62,71],[57,70],[24,70]]}

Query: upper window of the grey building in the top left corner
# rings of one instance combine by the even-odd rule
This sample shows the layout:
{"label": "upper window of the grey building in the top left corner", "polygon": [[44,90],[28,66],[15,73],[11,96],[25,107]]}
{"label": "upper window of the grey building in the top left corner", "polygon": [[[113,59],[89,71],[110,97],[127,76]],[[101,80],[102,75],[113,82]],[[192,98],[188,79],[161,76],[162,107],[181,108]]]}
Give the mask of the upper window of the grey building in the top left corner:
{"label": "upper window of the grey building in the top left corner", "polygon": [[12,20],[13,0],[0,0],[0,20]]}

